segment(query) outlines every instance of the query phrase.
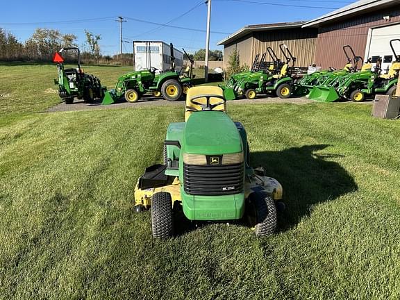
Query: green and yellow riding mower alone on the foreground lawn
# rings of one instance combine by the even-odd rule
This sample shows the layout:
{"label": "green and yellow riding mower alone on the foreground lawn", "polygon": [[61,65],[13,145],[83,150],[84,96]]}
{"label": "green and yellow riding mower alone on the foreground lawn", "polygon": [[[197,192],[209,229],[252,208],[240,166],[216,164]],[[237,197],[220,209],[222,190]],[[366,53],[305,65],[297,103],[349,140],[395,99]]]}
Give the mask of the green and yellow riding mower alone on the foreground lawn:
{"label": "green and yellow riding mower alone on the foreground lawn", "polygon": [[[151,208],[154,238],[174,235],[177,214],[192,222],[246,222],[256,235],[276,229],[282,186],[249,165],[247,133],[226,114],[221,88],[190,88],[185,122],[171,123],[164,165],[148,167],[135,187],[135,210]],[[278,206],[279,207],[279,206]]]}

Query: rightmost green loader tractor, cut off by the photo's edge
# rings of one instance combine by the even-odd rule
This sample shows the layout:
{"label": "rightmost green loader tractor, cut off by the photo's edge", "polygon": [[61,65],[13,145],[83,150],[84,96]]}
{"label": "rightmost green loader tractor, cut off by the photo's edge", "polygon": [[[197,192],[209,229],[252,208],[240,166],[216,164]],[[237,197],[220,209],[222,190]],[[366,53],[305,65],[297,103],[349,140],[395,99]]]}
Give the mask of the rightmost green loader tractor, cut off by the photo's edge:
{"label": "rightmost green loader tractor, cut off by the photo's edge", "polygon": [[324,102],[347,99],[360,102],[364,101],[365,97],[375,94],[394,94],[400,72],[400,56],[394,50],[394,42],[400,42],[400,39],[390,41],[394,61],[387,74],[381,74],[381,59],[378,60],[374,71],[372,71],[371,60],[368,60],[360,72],[338,76],[315,86],[310,92],[310,99]]}

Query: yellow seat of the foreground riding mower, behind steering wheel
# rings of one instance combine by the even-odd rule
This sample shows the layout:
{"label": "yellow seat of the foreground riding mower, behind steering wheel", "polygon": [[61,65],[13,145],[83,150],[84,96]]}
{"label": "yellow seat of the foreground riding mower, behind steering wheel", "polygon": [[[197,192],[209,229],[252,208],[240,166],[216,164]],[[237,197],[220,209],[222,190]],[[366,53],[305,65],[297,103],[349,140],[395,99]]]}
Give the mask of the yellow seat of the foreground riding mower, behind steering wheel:
{"label": "yellow seat of the foreground riding mower, behind steering wheel", "polygon": [[[188,121],[190,115],[192,115],[194,111],[201,110],[201,106],[192,103],[190,99],[193,99],[194,97],[197,97],[199,95],[208,95],[208,94],[224,97],[224,91],[222,90],[222,88],[211,85],[193,87],[188,90],[188,94],[186,94],[186,103],[185,103],[185,122]],[[196,101],[199,103],[206,104],[207,99],[206,97],[203,97],[196,99]],[[210,98],[211,104],[219,102],[221,102],[221,99],[219,98],[216,97]],[[213,110],[226,112],[226,103],[216,106],[215,108],[213,108]]]}

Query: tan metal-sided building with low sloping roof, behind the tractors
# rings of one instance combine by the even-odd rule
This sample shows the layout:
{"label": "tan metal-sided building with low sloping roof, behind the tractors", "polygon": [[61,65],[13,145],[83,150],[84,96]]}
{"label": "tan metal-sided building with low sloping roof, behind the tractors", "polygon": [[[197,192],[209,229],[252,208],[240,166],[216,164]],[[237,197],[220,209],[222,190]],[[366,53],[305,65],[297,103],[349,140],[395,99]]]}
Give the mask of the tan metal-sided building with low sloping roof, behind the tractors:
{"label": "tan metal-sided building with low sloping roof, behind the tractors", "polygon": [[[304,23],[259,24],[241,28],[218,43],[224,45],[224,67],[234,49],[239,53],[240,65],[251,66],[256,55],[265,53],[268,46],[283,59],[279,44],[286,44],[289,47],[293,56],[297,58],[297,66],[307,67],[314,62],[318,30],[301,28]],[[272,59],[267,56],[266,60]]]}

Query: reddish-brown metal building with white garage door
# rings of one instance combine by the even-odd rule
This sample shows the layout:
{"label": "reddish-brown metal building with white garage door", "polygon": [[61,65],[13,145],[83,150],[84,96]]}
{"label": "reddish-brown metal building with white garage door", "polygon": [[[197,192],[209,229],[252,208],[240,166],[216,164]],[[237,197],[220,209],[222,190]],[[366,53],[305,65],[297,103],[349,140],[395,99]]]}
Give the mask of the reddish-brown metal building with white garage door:
{"label": "reddish-brown metal building with white garage door", "polygon": [[400,38],[400,1],[356,1],[306,22],[302,28],[318,29],[315,63],[323,68],[343,67],[346,57],[342,47],[345,44],[351,45],[356,55],[365,60],[372,56],[386,56],[383,67],[387,67],[394,60],[390,57],[389,42]]}

